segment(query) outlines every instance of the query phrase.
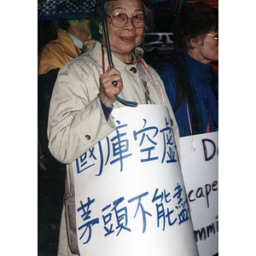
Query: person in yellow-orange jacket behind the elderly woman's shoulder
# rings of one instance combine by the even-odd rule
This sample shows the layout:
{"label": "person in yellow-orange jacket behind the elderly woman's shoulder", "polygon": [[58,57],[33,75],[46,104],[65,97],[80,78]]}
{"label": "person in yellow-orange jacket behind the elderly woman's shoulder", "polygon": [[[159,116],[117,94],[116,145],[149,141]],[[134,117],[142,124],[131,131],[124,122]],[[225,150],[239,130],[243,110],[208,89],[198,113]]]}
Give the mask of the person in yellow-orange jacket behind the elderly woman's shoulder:
{"label": "person in yellow-orange jacket behind the elderly woman's shoulder", "polygon": [[51,159],[48,150],[47,120],[49,99],[55,79],[61,67],[68,61],[86,52],[95,40],[90,39],[90,15],[83,18],[67,14],[59,20],[57,38],[44,46],[38,56],[38,142],[41,149],[39,163],[47,169],[47,161]]}

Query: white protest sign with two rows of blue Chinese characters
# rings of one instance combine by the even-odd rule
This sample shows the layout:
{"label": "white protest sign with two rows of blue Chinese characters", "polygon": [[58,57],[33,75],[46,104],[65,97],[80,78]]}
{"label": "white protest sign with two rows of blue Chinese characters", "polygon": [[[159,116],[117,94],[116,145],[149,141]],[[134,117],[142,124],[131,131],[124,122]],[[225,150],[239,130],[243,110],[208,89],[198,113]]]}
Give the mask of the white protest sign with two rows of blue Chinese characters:
{"label": "white protest sign with two rows of blue Chinese characters", "polygon": [[73,162],[80,255],[198,255],[167,108],[113,117],[116,130]]}

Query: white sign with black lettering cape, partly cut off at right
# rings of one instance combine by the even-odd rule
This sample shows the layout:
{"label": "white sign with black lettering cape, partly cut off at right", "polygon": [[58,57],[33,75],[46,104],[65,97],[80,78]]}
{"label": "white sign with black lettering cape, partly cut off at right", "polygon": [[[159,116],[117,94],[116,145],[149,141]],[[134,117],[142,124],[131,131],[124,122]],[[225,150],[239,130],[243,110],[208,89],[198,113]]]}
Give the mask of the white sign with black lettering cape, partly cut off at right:
{"label": "white sign with black lettering cape, partly cut off at right", "polygon": [[218,131],[181,137],[181,166],[200,256],[218,253]]}

